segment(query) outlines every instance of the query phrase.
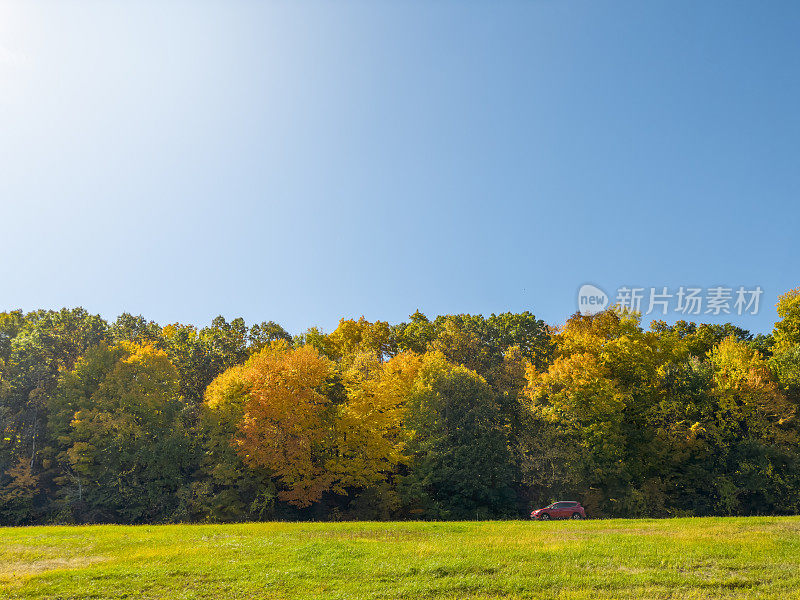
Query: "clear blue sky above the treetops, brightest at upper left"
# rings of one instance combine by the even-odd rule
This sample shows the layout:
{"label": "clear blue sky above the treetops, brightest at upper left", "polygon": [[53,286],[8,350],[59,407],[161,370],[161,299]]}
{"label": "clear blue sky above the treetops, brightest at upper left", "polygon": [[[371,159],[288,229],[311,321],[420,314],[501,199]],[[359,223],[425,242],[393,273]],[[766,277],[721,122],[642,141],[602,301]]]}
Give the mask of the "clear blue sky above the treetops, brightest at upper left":
{"label": "clear blue sky above the treetops, brightest at upper left", "polygon": [[0,2],[0,308],[298,332],[761,285],[729,318],[768,331],[799,31],[795,2]]}

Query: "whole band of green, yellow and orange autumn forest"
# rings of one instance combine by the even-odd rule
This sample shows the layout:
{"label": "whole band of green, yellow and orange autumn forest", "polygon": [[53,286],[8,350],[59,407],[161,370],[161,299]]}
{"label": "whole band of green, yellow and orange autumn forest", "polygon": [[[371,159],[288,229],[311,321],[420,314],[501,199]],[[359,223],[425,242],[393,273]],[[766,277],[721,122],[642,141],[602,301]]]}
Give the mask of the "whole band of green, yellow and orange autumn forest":
{"label": "whole band of green, yellow and orange autumn forest", "polygon": [[611,309],[292,336],[0,313],[0,524],[800,512],[800,288],[769,334]]}

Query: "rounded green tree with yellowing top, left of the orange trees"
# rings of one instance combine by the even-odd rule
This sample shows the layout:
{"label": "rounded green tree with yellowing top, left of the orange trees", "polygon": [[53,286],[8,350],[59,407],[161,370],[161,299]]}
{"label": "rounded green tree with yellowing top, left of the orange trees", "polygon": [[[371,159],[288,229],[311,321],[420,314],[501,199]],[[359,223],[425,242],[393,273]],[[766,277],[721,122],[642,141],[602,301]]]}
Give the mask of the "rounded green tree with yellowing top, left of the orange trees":
{"label": "rounded green tree with yellowing top, left of the orange trees", "polygon": [[62,449],[62,501],[76,519],[175,517],[192,469],[178,372],[162,350],[122,342],[90,349],[50,403]]}

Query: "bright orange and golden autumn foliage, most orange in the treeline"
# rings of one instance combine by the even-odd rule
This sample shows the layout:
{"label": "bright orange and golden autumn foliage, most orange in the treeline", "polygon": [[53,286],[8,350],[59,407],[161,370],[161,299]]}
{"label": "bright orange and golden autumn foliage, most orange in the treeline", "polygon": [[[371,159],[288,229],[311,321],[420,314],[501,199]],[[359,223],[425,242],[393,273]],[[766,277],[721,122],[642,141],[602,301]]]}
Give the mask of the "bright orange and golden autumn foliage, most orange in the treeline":
{"label": "bright orange and golden autumn foliage, most orange in the treeline", "polygon": [[266,469],[283,488],[278,497],[302,508],[325,492],[374,485],[404,461],[402,415],[418,368],[412,353],[380,363],[364,352],[336,364],[310,345],[278,341],[220,375],[205,404],[231,424],[242,460]]}

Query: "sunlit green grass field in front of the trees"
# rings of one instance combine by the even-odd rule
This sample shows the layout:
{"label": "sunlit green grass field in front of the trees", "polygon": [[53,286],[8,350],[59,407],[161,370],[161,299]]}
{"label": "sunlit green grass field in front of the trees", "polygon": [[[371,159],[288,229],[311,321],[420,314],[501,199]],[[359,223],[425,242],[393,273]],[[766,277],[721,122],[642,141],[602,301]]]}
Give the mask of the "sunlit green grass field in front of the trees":
{"label": "sunlit green grass field in front of the trees", "polygon": [[0,529],[2,598],[796,598],[800,518]]}

